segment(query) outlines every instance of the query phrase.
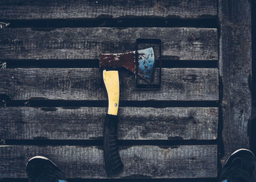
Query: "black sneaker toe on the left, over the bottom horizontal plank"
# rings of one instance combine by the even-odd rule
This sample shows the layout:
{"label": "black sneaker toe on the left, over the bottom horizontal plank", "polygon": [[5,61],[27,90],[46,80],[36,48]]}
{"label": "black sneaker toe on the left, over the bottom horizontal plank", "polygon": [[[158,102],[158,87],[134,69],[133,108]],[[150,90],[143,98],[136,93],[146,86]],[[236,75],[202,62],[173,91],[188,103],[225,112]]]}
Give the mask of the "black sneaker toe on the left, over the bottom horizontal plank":
{"label": "black sneaker toe on the left, over the bottom horizontal plank", "polygon": [[29,182],[67,182],[63,172],[44,156],[34,156],[26,165]]}

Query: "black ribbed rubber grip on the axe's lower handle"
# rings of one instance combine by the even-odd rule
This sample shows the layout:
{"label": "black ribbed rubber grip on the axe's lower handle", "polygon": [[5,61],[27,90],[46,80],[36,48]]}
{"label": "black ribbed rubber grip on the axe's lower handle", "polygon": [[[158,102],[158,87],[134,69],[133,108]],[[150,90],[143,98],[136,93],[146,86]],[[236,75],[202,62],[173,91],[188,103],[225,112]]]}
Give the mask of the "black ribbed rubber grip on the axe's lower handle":
{"label": "black ribbed rubber grip on the axe's lower handle", "polygon": [[109,176],[118,174],[124,167],[118,153],[117,125],[117,116],[107,114],[104,123],[103,151],[106,171]]}

